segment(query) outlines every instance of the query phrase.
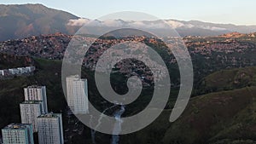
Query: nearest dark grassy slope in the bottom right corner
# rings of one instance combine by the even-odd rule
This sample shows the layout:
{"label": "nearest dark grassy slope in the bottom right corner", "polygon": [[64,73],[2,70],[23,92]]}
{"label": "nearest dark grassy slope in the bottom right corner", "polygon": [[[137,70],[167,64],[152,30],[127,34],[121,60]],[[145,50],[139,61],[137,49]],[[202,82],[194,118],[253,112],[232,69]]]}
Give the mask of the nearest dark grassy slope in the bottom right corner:
{"label": "nearest dark grassy slope in the bottom right corner", "polygon": [[182,117],[166,131],[165,144],[208,143],[222,139],[256,140],[256,87],[193,98]]}

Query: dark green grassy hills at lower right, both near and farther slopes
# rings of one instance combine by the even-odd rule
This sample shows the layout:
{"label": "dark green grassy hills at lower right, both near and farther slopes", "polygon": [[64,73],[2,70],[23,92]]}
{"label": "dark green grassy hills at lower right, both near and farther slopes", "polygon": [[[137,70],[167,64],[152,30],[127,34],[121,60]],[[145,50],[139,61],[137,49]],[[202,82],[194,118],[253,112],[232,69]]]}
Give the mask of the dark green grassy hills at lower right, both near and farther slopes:
{"label": "dark green grassy hills at lower right, both near and farther slopes", "polygon": [[192,98],[176,122],[168,122],[171,110],[165,110],[128,137],[139,143],[256,143],[255,72],[256,67],[246,67],[212,73],[201,89],[217,92]]}

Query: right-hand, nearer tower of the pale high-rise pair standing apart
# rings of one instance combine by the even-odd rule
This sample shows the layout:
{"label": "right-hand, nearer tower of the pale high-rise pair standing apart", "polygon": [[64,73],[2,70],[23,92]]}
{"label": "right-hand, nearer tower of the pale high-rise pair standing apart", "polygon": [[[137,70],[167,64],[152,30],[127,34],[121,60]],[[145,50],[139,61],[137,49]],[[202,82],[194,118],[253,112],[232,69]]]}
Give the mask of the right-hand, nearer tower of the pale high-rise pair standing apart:
{"label": "right-hand, nearer tower of the pale high-rise pair standing apart", "polygon": [[74,95],[74,114],[85,114],[89,112],[88,108],[88,86],[87,79],[73,81]]}

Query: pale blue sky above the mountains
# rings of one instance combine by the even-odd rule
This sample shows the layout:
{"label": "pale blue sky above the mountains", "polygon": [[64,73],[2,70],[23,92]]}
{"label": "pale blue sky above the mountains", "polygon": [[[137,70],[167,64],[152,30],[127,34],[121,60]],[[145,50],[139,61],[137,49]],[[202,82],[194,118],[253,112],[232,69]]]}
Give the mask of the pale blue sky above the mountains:
{"label": "pale blue sky above the mountains", "polygon": [[163,20],[256,25],[255,0],[1,0],[0,3],[42,3],[92,20],[115,12],[137,11]]}

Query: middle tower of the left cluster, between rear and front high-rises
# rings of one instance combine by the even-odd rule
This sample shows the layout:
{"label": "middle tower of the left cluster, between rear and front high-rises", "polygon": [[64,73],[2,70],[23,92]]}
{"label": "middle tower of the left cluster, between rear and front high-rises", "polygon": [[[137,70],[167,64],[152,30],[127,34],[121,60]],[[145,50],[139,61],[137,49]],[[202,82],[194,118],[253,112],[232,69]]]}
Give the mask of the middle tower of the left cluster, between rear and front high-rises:
{"label": "middle tower of the left cluster, between rear and front high-rises", "polygon": [[32,124],[33,132],[38,132],[37,118],[44,112],[43,101],[24,101],[20,103],[20,116],[22,124]]}

